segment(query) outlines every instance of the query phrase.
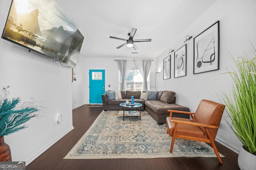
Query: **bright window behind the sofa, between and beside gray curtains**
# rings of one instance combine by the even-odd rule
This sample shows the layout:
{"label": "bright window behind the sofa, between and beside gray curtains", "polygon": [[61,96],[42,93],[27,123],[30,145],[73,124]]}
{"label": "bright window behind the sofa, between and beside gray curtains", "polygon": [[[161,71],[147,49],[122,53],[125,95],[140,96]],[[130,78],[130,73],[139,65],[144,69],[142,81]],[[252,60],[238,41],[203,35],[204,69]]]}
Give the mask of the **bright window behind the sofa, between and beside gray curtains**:
{"label": "bright window behind the sofa, between and beside gray curtains", "polygon": [[[149,77],[149,76],[148,76]],[[148,80],[149,82],[149,80]],[[119,71],[119,90],[122,83],[122,76]],[[130,70],[126,78],[126,88],[131,91],[143,90],[143,77],[139,70]]]}

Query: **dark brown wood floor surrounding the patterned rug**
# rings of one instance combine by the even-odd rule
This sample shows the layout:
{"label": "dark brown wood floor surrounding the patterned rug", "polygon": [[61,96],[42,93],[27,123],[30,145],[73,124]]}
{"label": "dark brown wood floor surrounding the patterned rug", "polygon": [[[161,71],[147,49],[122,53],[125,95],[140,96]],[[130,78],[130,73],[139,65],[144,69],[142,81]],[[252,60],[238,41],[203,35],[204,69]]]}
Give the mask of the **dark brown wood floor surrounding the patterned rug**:
{"label": "dark brown wood floor surrounding the patterned rug", "polygon": [[26,170],[239,170],[238,154],[216,143],[217,158],[63,159],[92,125],[102,107],[81,106],[73,110],[74,129],[26,166]]}

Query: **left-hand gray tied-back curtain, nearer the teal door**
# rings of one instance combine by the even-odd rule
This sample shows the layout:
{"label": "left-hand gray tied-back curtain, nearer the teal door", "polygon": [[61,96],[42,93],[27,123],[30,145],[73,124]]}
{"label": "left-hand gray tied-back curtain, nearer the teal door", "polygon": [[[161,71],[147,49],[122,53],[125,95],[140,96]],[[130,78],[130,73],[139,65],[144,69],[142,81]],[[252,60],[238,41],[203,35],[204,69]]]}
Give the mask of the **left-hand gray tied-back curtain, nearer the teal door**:
{"label": "left-hand gray tied-back curtain, nearer the teal door", "polygon": [[120,71],[120,74],[122,76],[122,83],[120,90],[126,91],[126,77],[128,76],[128,73],[130,71],[131,63],[130,60],[116,60],[118,69]]}

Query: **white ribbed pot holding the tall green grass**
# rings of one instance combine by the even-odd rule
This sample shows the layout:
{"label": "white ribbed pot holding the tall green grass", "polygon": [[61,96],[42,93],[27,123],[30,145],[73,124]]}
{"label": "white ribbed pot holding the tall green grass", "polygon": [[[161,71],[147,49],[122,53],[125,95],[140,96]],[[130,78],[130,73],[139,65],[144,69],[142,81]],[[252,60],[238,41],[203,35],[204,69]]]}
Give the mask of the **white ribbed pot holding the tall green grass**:
{"label": "white ribbed pot holding the tall green grass", "polygon": [[256,170],[256,155],[251,154],[241,146],[238,154],[238,166],[241,170]]}

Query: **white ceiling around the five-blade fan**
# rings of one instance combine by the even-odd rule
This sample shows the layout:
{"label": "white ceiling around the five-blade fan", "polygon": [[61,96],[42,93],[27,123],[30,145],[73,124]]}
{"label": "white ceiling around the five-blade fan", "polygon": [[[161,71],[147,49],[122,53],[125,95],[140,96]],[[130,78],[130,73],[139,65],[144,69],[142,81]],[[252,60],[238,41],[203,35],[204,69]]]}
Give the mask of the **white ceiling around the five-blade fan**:
{"label": "white ceiling around the five-blade fan", "polygon": [[[58,0],[84,35],[80,57],[158,57],[176,37],[217,0]],[[121,47],[132,27],[137,28],[134,48]],[[189,35],[189,32],[188,32]],[[184,41],[185,41],[184,37]]]}

